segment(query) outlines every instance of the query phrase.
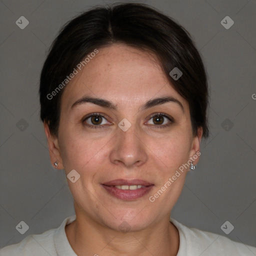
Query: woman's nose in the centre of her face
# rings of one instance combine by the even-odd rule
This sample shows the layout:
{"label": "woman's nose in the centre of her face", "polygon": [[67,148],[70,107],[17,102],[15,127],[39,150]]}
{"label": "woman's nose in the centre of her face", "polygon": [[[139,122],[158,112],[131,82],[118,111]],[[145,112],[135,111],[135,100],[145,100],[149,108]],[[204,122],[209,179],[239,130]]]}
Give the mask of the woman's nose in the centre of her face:
{"label": "woman's nose in the centre of her face", "polygon": [[122,167],[141,166],[147,160],[146,145],[135,125],[123,131],[117,128],[116,137],[110,152],[110,161]]}

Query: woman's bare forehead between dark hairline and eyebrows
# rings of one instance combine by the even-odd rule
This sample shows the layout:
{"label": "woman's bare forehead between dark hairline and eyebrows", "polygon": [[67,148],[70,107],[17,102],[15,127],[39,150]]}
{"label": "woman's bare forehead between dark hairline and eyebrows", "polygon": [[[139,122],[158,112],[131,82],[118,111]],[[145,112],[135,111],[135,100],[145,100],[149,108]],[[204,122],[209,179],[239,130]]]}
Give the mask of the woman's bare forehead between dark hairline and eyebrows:
{"label": "woman's bare forehead between dark hairline and eyebrows", "polygon": [[125,107],[166,94],[185,105],[185,100],[165,77],[155,55],[125,44],[112,44],[99,48],[66,85],[61,99],[65,103],[61,105],[68,110],[78,98],[90,95]]}

